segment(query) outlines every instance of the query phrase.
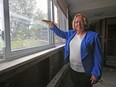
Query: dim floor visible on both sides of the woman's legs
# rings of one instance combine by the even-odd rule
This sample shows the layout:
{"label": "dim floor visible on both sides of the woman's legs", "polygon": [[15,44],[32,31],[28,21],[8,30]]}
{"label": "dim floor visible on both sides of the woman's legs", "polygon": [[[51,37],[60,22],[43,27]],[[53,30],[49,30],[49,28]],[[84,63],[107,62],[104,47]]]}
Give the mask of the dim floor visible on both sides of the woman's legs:
{"label": "dim floor visible on both sides of the woman's legs", "polygon": [[[59,87],[73,87],[69,73],[67,73],[63,84],[61,83]],[[93,87],[116,87],[116,68],[104,67],[101,82],[94,84]]]}

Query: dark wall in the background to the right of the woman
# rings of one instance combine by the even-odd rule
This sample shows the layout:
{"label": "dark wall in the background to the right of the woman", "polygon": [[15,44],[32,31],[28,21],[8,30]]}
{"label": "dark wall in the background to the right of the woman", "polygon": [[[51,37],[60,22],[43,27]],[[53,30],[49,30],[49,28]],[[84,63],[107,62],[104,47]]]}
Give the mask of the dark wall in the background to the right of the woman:
{"label": "dark wall in the background to the right of the woman", "polygon": [[116,67],[116,17],[99,20],[95,30],[100,34],[104,66]]}

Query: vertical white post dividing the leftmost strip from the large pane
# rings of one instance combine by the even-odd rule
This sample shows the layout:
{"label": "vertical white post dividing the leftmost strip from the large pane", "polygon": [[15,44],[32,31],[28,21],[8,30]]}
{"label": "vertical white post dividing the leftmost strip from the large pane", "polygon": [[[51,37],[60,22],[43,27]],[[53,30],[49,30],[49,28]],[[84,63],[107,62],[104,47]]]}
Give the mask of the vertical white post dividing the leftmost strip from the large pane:
{"label": "vertical white post dividing the leftmost strip from the large pane", "polygon": [[5,29],[4,29],[4,40],[5,40],[5,47],[4,47],[4,55],[5,58],[8,58],[9,54],[11,54],[11,44],[10,44],[10,19],[9,19],[9,0],[3,0],[4,4],[4,24],[5,24]]}

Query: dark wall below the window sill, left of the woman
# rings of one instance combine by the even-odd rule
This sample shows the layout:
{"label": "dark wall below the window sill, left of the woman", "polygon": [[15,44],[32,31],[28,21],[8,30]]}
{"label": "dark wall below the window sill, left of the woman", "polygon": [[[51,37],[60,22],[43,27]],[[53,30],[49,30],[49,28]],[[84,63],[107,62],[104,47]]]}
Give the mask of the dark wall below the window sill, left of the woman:
{"label": "dark wall below the window sill, left of the woman", "polygon": [[32,61],[0,74],[0,87],[46,87],[64,64],[63,48],[49,54],[38,63]]}

